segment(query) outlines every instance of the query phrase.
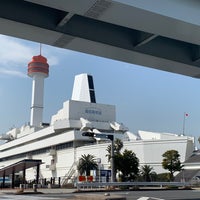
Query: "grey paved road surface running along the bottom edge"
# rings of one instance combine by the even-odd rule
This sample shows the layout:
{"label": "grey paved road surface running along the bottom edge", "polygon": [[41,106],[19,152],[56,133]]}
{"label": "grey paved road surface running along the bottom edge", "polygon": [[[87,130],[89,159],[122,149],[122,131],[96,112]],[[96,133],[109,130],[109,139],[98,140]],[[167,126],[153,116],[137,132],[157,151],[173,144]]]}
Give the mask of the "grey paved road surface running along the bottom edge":
{"label": "grey paved road surface running along the bottom edge", "polygon": [[[98,196],[104,196],[105,192],[98,193],[56,193],[49,192],[44,194],[26,194],[15,195],[13,193],[1,193],[1,200],[67,200],[72,199],[74,195],[94,196],[98,200]],[[171,190],[171,191],[127,191],[127,192],[111,192],[113,195],[126,197],[127,200],[200,200],[200,190]]]}

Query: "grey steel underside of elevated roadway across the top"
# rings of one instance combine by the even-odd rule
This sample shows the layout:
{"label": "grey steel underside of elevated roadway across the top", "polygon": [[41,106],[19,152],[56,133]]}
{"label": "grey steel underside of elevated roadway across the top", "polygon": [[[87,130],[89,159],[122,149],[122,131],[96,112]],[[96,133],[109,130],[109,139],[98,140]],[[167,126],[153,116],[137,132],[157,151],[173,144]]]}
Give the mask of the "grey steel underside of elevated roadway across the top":
{"label": "grey steel underside of elevated roadway across the top", "polygon": [[0,33],[200,78],[197,0],[1,0]]}

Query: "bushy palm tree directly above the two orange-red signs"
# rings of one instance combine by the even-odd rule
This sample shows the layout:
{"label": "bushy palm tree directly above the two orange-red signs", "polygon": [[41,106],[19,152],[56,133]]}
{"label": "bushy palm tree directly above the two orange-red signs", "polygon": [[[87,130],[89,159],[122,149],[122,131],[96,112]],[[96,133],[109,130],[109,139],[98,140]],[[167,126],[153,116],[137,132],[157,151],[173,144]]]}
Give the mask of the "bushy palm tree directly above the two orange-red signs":
{"label": "bushy palm tree directly above the two orange-red signs", "polygon": [[81,158],[79,159],[77,169],[81,175],[86,174],[86,176],[89,176],[90,170],[98,169],[98,164],[95,161],[95,157],[90,154],[82,155]]}

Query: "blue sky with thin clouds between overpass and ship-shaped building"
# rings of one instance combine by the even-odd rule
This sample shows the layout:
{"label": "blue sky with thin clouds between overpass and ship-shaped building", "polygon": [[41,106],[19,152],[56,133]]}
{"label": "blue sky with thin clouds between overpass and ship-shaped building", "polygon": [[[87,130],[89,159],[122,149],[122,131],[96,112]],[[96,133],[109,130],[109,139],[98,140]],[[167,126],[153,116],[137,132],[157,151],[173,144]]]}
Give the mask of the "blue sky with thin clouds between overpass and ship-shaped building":
{"label": "blue sky with thin clouds between overpass and ship-shaped building", "polygon": [[[39,44],[0,35],[0,134],[30,120],[32,79],[27,64]],[[45,79],[44,122],[71,98],[74,76],[93,76],[98,103],[116,105],[129,130],[200,136],[200,80],[97,56],[42,46],[50,65]]]}

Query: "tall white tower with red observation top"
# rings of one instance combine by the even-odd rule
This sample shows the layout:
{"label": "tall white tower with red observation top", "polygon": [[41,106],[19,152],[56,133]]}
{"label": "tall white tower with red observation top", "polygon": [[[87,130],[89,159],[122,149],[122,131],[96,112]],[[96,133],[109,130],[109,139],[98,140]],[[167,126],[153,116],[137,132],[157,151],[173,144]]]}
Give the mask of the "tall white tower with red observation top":
{"label": "tall white tower with red observation top", "polygon": [[33,78],[30,125],[40,127],[43,117],[44,79],[49,76],[47,59],[33,56],[28,63],[28,76]]}

